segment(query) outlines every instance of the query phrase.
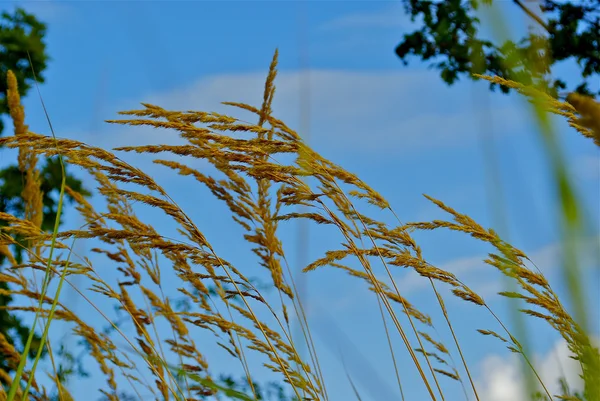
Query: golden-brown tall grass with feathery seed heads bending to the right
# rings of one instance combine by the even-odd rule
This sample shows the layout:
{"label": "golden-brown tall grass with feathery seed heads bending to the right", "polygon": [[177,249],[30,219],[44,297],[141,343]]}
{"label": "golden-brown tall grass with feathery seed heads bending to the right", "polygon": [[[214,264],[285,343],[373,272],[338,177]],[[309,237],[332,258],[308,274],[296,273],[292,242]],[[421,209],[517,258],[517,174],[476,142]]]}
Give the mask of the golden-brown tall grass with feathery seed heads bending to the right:
{"label": "golden-brown tall grass with feathery seed heads bending to the right", "polygon": [[[153,155],[167,152],[181,156],[176,160],[157,158],[154,163],[189,179],[190,191],[193,185],[204,186],[227,206],[230,217],[245,232],[243,239],[256,257],[243,266],[228,260],[233,255],[217,253],[201,223],[192,220],[145,171],[124,162],[111,151],[30,132],[22,128],[23,119],[17,117],[18,113],[13,113],[15,127],[21,128],[16,130],[18,134],[1,138],[0,143],[19,149],[23,155],[20,157],[29,161],[24,163],[28,191],[26,215],[0,214],[0,219],[6,222],[0,232],[0,249],[11,263],[0,273],[0,279],[11,284],[10,293],[20,301],[9,308],[35,313],[47,319],[48,324],[61,321],[67,325],[75,337],[83,340],[89,356],[95,360],[106,381],[98,391],[109,400],[125,399],[125,393],[144,400],[260,399],[254,372],[261,370],[261,365],[280,377],[293,399],[333,400],[327,392],[320,352],[299,301],[294,274],[278,231],[279,224],[307,219],[318,225],[332,226],[339,235],[340,248],[327,251],[305,266],[304,274],[318,269],[337,269],[360,280],[374,293],[386,324],[390,359],[395,365],[401,362],[414,367],[422,383],[424,399],[448,399],[445,378],[460,382],[469,397],[485,399],[473,379],[474,362],[469,361],[464,352],[468,345],[457,334],[446,306],[448,296],[485,310],[495,320],[494,327],[478,331],[504,342],[523,358],[543,397],[574,399],[567,393],[551,394],[532,356],[488,302],[458,276],[425,259],[413,233],[447,229],[492,247],[493,252],[484,262],[512,280],[516,287],[515,291],[501,295],[522,299],[527,305],[522,311],[525,315],[546,321],[564,338],[582,369],[584,399],[600,400],[600,355],[590,333],[565,309],[544,275],[528,268],[531,261],[527,255],[504,241],[493,229],[482,227],[468,215],[429,196],[427,199],[448,218],[402,223],[379,193],[308,147],[297,132],[272,114],[276,67],[277,52],[269,68],[260,107],[225,103],[254,114],[256,123],[218,113],[171,111],[146,103],[140,110],[121,112],[127,116],[125,119],[108,121],[179,134],[185,141],[182,145],[122,146],[113,151]],[[535,99],[544,98],[534,89],[514,82],[483,78],[512,85],[527,96],[535,95]],[[544,99],[545,109],[563,115],[577,131],[598,144],[598,103],[582,97],[572,97],[570,103]],[[10,104],[11,110],[22,110],[18,99]],[[87,171],[95,180],[106,210],[96,210],[65,186],[65,192],[76,200],[77,210],[86,224],[77,230],[42,232],[39,179],[36,164],[32,162],[39,155],[62,156],[65,163]],[[211,171],[209,168],[200,171],[190,167],[183,161],[184,157],[208,162],[214,174],[207,173]],[[290,162],[282,162],[284,159]],[[387,212],[393,223],[369,217],[365,203]],[[168,218],[177,228],[179,238],[167,237],[152,224],[141,221],[136,209],[146,206]],[[304,206],[306,211],[297,212],[298,206]],[[19,243],[17,236],[28,242]],[[106,263],[78,257],[69,242],[75,239],[96,240],[101,245],[92,251],[98,259],[104,257]],[[11,246],[25,248],[27,261],[17,264],[12,258]],[[51,252],[53,249],[63,253],[57,255]],[[359,267],[351,267],[352,262],[354,265],[358,262]],[[255,263],[268,273],[272,291],[265,292],[250,279]],[[396,282],[396,271],[400,268],[413,270],[428,281],[443,316],[441,321],[434,321],[404,297]],[[46,272],[47,282],[42,288],[28,280],[36,271]],[[116,283],[111,282],[114,280],[107,271],[118,275]],[[60,302],[58,296],[46,296],[47,288],[57,277],[59,286],[63,281],[70,285],[81,302],[88,303],[97,314],[77,314]],[[85,289],[75,286],[77,279],[89,286]],[[175,305],[173,295],[167,294],[174,293],[175,288],[187,307]],[[441,288],[449,288],[451,295],[443,295]],[[92,298],[101,298],[103,306]],[[128,335],[122,329],[122,322],[111,317],[105,305],[120,311],[132,324],[135,334]],[[103,330],[98,319],[111,329]],[[300,338],[292,337],[292,322],[299,324]],[[438,338],[436,325],[447,326],[451,333],[448,344]],[[211,342],[206,340],[208,338]],[[308,350],[306,358],[300,355],[301,343]],[[407,357],[401,359],[392,343],[403,346]],[[48,345],[52,344],[50,338]],[[224,350],[231,366],[235,363],[235,369],[244,372],[247,382],[244,389],[232,389],[218,380],[207,356],[211,353],[207,350],[215,348]],[[27,366],[27,353],[19,354],[2,335],[0,353],[15,368],[19,364]],[[51,347],[49,354],[54,361],[56,355]],[[453,362],[453,354],[459,356],[459,364]],[[0,400],[52,399],[50,390],[34,380],[36,376],[31,370],[21,369],[21,377],[16,378],[0,371],[4,385],[4,389],[0,389]],[[72,399],[54,362],[47,374],[56,386],[56,398]],[[398,381],[400,388],[406,388],[397,372],[390,372],[390,377]],[[28,383],[31,391],[27,395]],[[360,399],[352,381],[349,385]]]}

